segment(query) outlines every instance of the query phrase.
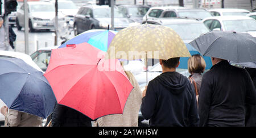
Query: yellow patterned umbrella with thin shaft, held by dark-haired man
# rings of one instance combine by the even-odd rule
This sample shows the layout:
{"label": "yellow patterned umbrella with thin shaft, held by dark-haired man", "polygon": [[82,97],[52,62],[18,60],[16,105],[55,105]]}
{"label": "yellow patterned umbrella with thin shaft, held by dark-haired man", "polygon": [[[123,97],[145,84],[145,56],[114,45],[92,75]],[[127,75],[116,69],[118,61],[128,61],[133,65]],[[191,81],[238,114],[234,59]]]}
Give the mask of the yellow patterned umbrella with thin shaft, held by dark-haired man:
{"label": "yellow patterned umbrella with thin shaft, held by dark-haired man", "polygon": [[119,31],[110,43],[107,53],[106,58],[124,60],[191,57],[183,40],[174,30],[147,23]]}

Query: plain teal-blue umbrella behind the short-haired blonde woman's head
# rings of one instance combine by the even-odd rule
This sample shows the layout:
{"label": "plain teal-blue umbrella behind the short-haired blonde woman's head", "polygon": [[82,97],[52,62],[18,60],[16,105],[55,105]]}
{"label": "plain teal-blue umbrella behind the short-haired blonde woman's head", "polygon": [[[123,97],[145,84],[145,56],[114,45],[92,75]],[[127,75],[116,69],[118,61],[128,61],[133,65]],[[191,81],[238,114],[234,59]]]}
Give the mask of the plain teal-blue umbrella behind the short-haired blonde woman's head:
{"label": "plain teal-blue umbrella behind the short-haired blonde woman's head", "polygon": [[[185,44],[189,53],[191,54],[191,56],[193,55],[201,55],[195,48],[192,47],[192,45],[190,44]],[[201,55],[202,56],[202,55]],[[188,58],[189,57],[180,57],[180,65],[179,65],[179,69],[188,69]],[[212,68],[212,60],[210,60],[210,57],[208,56],[203,56],[204,60],[205,60],[205,70]]]}

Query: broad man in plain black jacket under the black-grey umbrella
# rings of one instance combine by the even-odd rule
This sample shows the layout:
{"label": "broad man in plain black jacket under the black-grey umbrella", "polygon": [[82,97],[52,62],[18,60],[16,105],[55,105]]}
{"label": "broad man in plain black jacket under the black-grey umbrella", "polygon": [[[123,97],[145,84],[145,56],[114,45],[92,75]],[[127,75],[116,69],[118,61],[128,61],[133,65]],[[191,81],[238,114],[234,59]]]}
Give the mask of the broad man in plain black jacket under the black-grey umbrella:
{"label": "broad man in plain black jacket under the black-grey umbrella", "polygon": [[245,126],[246,103],[255,104],[256,90],[249,73],[227,60],[212,58],[199,93],[200,126]]}

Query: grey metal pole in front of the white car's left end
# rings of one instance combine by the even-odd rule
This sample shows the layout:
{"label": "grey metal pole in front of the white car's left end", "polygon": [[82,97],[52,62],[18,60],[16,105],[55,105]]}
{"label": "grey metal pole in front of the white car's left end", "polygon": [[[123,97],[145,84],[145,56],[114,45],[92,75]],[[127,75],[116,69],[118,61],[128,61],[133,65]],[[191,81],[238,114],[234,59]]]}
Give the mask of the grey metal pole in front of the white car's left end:
{"label": "grey metal pole in front of the white car's left end", "polygon": [[28,5],[27,0],[24,0],[24,30],[25,30],[25,53],[29,54],[28,47]]}

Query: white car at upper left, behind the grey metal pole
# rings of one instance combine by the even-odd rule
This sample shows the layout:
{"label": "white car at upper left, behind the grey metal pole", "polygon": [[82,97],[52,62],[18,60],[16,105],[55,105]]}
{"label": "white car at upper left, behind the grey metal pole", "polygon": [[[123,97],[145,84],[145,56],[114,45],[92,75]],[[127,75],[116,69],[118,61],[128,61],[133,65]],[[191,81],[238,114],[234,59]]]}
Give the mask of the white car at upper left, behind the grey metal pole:
{"label": "white car at upper left, behind the grey metal pole", "polygon": [[[51,2],[30,1],[28,4],[28,27],[30,32],[35,30],[55,29],[55,6]],[[58,12],[59,20],[64,20],[64,15]],[[24,27],[24,5],[16,12],[16,27]]]}

